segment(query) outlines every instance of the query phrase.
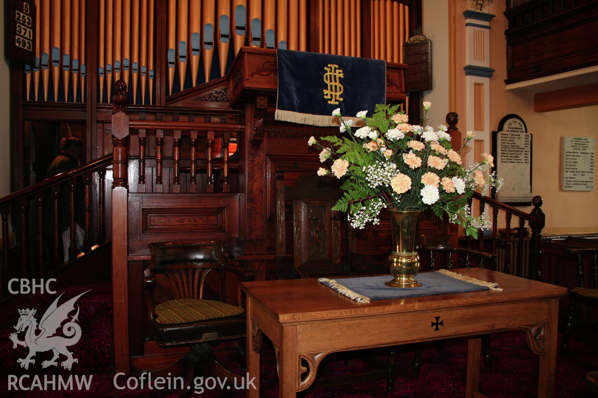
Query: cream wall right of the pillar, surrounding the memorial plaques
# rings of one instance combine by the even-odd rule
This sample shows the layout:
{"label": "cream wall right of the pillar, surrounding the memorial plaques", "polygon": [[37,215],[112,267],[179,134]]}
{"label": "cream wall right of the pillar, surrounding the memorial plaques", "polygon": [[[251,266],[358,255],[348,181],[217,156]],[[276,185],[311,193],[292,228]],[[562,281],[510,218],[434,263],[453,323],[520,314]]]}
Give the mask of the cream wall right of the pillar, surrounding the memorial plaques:
{"label": "cream wall right of the pillar, surrounding the memorial plaques", "polygon": [[[506,90],[507,44],[504,31],[507,18],[504,11],[505,2],[495,1],[490,5],[489,12],[496,15],[491,22],[490,34],[490,67],[496,69],[490,79],[490,128],[496,129],[503,116],[516,113],[533,134],[532,191],[544,199],[545,235],[598,232],[598,191],[560,190],[561,137],[594,137],[598,141],[598,106],[534,112],[533,94]],[[521,208],[526,212],[531,209]]]}

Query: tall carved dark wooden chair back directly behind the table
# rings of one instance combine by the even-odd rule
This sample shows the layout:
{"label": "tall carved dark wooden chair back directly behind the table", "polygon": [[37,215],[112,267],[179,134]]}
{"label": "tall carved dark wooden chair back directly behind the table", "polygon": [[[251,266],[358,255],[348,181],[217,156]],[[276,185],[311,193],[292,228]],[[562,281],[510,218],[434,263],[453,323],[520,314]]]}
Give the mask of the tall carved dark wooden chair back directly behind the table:
{"label": "tall carved dark wooden chair back directly behind the table", "polygon": [[[341,215],[331,210],[342,196],[341,181],[315,172],[300,175],[293,187],[285,186],[283,172],[277,172],[275,179],[277,279],[348,274],[348,261],[341,261]],[[288,201],[292,201],[292,259],[286,253]]]}

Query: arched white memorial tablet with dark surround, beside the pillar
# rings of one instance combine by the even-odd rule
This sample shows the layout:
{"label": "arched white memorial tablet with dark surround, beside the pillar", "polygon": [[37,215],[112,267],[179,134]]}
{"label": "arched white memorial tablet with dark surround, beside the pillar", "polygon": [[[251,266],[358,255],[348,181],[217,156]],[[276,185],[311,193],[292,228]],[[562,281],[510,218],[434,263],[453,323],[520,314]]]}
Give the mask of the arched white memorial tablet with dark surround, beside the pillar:
{"label": "arched white memorial tablet with dark surround, beside the pillar", "polygon": [[493,171],[502,178],[492,197],[511,206],[532,205],[532,134],[523,119],[507,115],[492,132]]}

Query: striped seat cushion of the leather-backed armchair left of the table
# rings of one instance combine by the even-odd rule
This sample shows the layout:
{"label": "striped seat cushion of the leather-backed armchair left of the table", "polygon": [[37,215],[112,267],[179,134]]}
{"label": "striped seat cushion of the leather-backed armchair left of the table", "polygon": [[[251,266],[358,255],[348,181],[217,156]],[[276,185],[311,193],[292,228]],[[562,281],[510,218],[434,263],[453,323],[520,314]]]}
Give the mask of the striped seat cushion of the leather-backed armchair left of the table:
{"label": "striped seat cushion of the leather-backed armchair left of the table", "polygon": [[230,306],[221,301],[177,298],[164,301],[155,307],[156,322],[164,324],[197,322],[242,314],[241,307]]}

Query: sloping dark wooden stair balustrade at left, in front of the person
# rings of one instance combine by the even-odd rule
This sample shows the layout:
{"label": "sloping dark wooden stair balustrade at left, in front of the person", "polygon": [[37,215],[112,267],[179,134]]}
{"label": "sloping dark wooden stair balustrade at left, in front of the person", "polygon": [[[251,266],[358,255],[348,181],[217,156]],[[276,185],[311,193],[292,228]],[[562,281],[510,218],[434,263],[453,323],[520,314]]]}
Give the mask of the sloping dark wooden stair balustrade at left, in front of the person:
{"label": "sloping dark wooden stair balustrade at left, in front of the person", "polygon": [[[2,218],[2,267],[0,297],[7,295],[7,284],[11,277],[44,277],[48,263],[54,270],[59,269],[64,257],[62,254],[62,229],[60,211],[64,202],[68,202],[68,222],[70,226],[69,261],[77,258],[77,218],[76,209],[84,209],[83,250],[91,249],[93,242],[92,220],[93,196],[91,185],[93,174],[98,178],[97,190],[97,243],[106,241],[104,230],[105,214],[105,174],[106,166],[112,161],[112,155],[103,156],[76,169],[47,178],[33,186],[26,187],[0,199]],[[83,184],[83,203],[77,203],[77,189]],[[61,201],[63,206],[61,206]],[[48,212],[48,214],[46,214]],[[9,221],[13,218],[16,243],[11,254],[9,242]],[[47,224],[50,223],[50,224]],[[81,227],[81,226],[80,226]],[[49,232],[47,234],[47,232]],[[51,237],[50,237],[51,236]],[[49,238],[48,238],[49,237]],[[13,255],[13,257],[11,257]],[[11,266],[11,264],[13,264]]]}

